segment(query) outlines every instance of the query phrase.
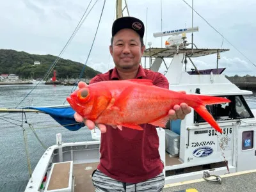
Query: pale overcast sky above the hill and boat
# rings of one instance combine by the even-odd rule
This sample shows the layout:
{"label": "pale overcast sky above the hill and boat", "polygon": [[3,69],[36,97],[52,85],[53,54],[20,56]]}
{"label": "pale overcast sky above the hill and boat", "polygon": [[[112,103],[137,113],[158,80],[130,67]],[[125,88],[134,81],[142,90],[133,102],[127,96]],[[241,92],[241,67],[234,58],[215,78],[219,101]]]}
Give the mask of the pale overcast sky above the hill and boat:
{"label": "pale overcast sky above the hill and boat", "polygon": [[[192,4],[192,0],[184,1]],[[192,10],[184,1],[127,0],[129,15],[138,17],[145,24],[144,41],[147,47],[148,42],[152,42],[152,47],[161,47],[161,43],[164,46],[168,38],[164,36],[161,41],[161,38],[155,38],[153,33],[192,26]],[[88,16],[61,58],[79,61],[100,72],[107,72],[114,67],[109,54],[109,44],[111,26],[115,20],[115,0],[106,1],[92,47],[104,0],[95,2],[96,0],[92,0],[88,8],[90,0],[1,1],[0,49],[58,56],[88,8],[86,12]],[[95,6],[93,6],[94,3]],[[193,42],[196,46],[230,49],[228,52],[221,53],[219,61],[219,67],[227,67],[224,72],[227,76],[236,74],[256,76],[256,67],[252,64],[256,65],[253,49],[256,41],[256,1],[195,0],[193,4],[196,12],[234,45],[233,47],[227,40],[223,40],[220,34],[194,12],[193,26],[199,27],[199,31],[194,33]],[[89,10],[91,10],[90,13]],[[124,16],[127,16],[126,11]],[[188,41],[191,42],[191,33],[187,36]],[[166,62],[170,65],[170,60]],[[193,58],[193,62],[198,69],[216,68],[216,55]],[[192,66],[189,65],[188,68]],[[161,67],[161,72],[163,70],[164,67]]]}

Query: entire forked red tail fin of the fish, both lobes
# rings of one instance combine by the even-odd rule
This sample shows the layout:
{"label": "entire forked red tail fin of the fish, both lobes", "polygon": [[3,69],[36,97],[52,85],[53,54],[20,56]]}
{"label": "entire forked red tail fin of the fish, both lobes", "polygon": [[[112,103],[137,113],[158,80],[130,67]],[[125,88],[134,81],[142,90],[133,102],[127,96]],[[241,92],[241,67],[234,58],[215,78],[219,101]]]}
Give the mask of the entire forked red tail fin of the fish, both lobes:
{"label": "entire forked red tail fin of the fish, both lobes", "polygon": [[[204,118],[216,131],[222,133],[220,126],[217,124],[216,120],[214,120],[213,116],[209,113],[209,111],[205,108],[205,105],[211,104],[221,104],[225,102],[230,102],[229,99],[223,97],[214,97],[214,96],[207,96],[207,95],[193,95],[197,97],[197,102],[191,104],[191,107],[195,109],[195,111]],[[199,102],[199,105],[198,105]]]}

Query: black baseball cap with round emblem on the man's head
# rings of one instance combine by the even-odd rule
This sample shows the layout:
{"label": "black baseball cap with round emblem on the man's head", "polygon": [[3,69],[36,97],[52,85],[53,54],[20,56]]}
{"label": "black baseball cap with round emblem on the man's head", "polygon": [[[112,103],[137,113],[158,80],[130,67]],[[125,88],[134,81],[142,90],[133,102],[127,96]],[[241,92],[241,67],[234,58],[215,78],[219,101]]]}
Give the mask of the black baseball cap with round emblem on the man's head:
{"label": "black baseball cap with round emblem on the man's head", "polygon": [[140,19],[135,17],[120,17],[113,22],[112,36],[115,36],[121,29],[132,29],[140,35],[141,38],[144,36],[144,24]]}

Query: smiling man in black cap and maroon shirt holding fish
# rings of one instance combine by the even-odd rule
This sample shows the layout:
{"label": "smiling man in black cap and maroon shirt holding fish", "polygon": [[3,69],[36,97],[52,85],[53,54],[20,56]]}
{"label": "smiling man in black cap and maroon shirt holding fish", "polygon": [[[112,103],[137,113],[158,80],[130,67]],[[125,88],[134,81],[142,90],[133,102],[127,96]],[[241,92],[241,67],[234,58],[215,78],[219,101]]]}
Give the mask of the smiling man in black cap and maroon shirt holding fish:
{"label": "smiling man in black cap and maroon shirt holding fish", "polygon": [[[140,66],[144,25],[134,17],[116,19],[112,26],[109,51],[115,68],[105,74],[95,76],[90,83],[109,80],[151,79],[153,84],[169,88],[162,74],[143,69]],[[87,86],[79,83],[79,88]],[[187,104],[174,106],[169,111],[170,119],[184,119],[191,109]],[[95,124],[75,113],[77,122],[83,122],[89,129]],[[164,187],[163,163],[159,156],[159,138],[156,127],[143,124],[143,131],[126,127],[113,129],[109,125],[97,125],[102,132],[100,163],[93,173],[96,191],[162,191]]]}

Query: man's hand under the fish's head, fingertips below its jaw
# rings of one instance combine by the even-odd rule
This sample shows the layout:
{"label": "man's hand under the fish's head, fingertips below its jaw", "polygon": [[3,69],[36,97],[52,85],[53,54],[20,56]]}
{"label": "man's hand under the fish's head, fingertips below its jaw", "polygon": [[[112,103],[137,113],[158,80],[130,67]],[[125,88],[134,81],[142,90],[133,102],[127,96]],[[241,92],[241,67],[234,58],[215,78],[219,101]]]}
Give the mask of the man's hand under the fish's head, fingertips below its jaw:
{"label": "man's hand under the fish's head, fingertips below its jaw", "polygon": [[[78,83],[78,88],[85,88],[86,86],[88,86],[86,83],[84,82],[79,82]],[[84,122],[84,124],[90,129],[94,129],[95,128],[95,124],[94,122],[92,122],[91,120],[86,120],[84,119],[81,115],[79,115],[78,113],[74,114],[74,118],[77,122]],[[104,133],[107,131],[106,125],[104,124],[97,124],[97,127],[99,127],[100,132]]]}

